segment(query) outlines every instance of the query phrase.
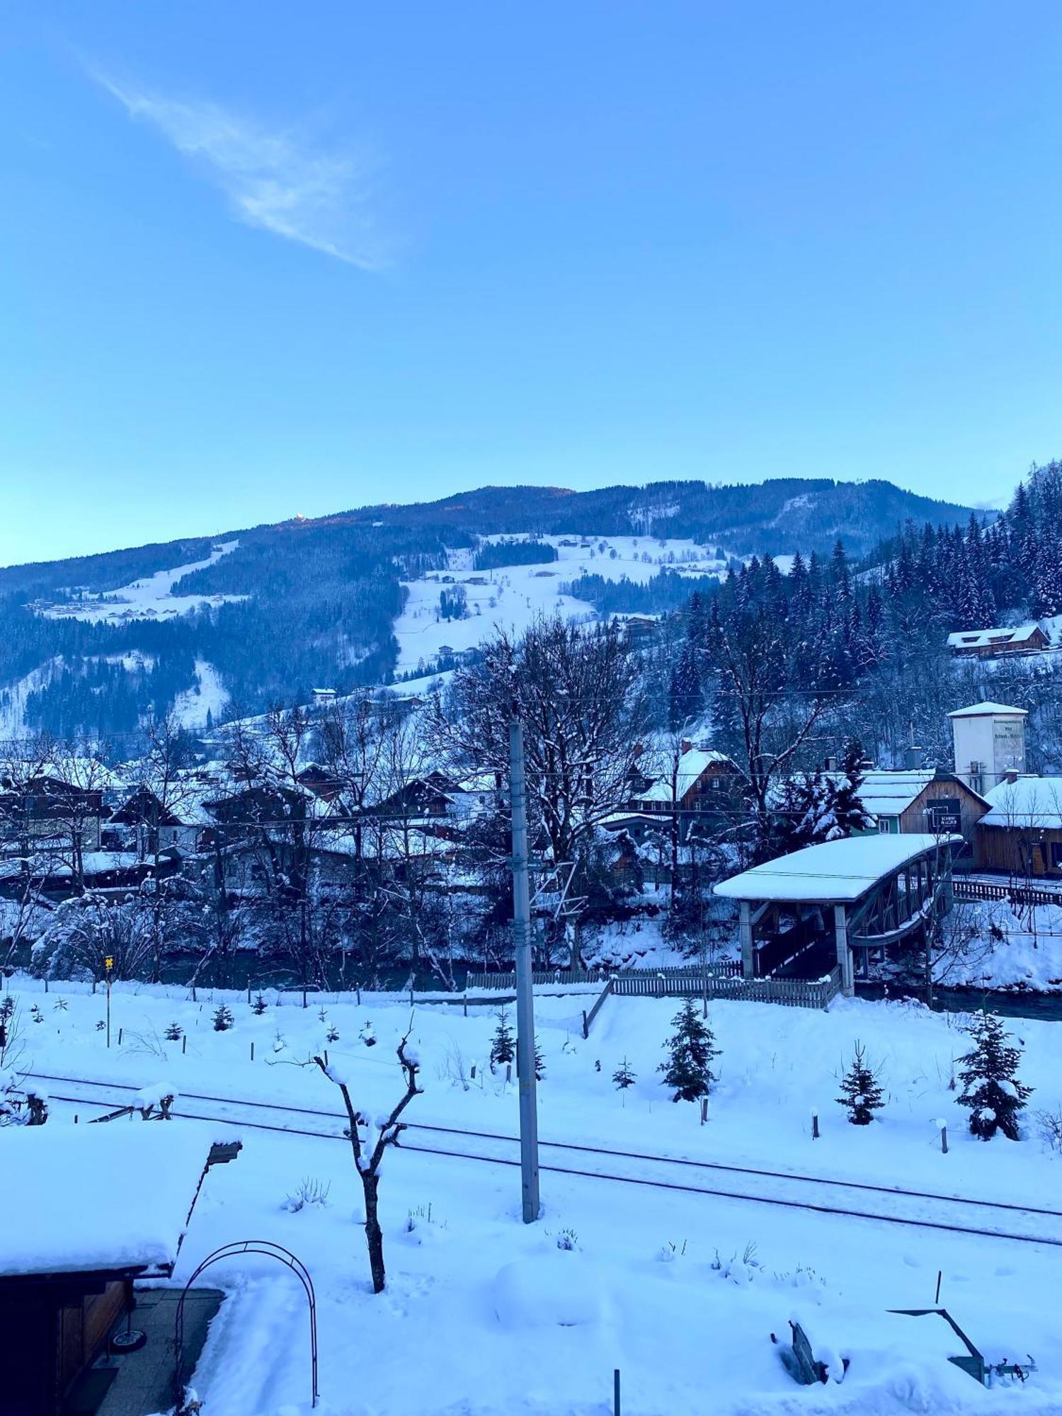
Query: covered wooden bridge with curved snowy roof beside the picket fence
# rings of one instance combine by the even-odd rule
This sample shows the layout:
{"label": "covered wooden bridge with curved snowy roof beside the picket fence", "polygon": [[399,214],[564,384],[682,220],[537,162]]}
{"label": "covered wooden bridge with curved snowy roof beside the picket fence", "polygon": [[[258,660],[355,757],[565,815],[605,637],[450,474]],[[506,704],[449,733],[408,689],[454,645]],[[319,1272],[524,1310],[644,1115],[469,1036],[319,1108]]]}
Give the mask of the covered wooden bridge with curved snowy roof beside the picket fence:
{"label": "covered wooden bridge with curved snowy roof beside the picket fence", "polygon": [[925,947],[952,908],[952,854],[960,835],[851,835],[809,845],[715,886],[739,902],[745,978],[820,978],[841,991],[871,963]]}

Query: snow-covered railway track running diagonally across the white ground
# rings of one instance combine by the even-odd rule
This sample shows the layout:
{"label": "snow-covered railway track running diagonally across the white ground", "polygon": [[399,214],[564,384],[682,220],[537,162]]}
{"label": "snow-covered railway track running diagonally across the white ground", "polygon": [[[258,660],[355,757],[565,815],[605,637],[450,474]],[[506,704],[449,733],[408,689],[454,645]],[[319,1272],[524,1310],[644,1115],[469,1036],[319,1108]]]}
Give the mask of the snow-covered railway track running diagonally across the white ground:
{"label": "snow-covered railway track running diagonally across the white ground", "polygon": [[[139,1090],[126,1082],[45,1072],[33,1072],[30,1076],[50,1083],[55,1102],[101,1110],[129,1104],[130,1095]],[[65,1090],[51,1089],[55,1085]],[[316,1140],[344,1140],[343,1113],[280,1102],[181,1092],[173,1114]],[[402,1138],[402,1150],[508,1167],[520,1165],[518,1146],[515,1136],[412,1121]],[[539,1140],[539,1147],[545,1157],[539,1168],[547,1174],[1062,1247],[1062,1211],[1031,1204],[902,1189],[828,1175],[613,1150],[575,1141]]]}

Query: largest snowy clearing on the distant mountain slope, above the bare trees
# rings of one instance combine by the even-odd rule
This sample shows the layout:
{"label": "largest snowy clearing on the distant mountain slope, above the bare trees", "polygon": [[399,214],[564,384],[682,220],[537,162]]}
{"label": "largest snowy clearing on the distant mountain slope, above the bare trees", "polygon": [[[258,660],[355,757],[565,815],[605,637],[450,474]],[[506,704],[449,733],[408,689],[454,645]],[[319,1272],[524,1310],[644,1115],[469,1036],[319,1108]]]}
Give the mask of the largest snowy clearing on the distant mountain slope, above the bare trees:
{"label": "largest snowy clearing on the distant mountain slope, above the bare trees", "polygon": [[[432,571],[418,581],[405,582],[409,598],[395,620],[398,673],[408,673],[419,666],[430,667],[443,646],[460,651],[476,649],[496,629],[520,633],[538,615],[559,612],[568,619],[593,619],[592,605],[559,590],[562,583],[583,573],[600,575],[606,581],[626,576],[644,585],[666,569],[691,575],[722,575],[726,571],[725,561],[715,556],[715,547],[702,547],[688,539],[559,535],[541,539],[556,547],[559,559],[544,565],[473,571],[470,552],[455,551],[449,571]],[[464,619],[445,620],[439,615],[439,593],[452,583],[464,586],[469,602]]]}

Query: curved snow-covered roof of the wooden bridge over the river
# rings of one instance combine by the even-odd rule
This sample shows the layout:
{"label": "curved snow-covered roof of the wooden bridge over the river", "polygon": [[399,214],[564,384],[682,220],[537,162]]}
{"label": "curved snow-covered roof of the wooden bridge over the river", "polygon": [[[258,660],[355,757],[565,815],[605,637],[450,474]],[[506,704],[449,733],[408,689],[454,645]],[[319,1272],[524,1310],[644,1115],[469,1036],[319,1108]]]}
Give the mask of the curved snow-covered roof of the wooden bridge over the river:
{"label": "curved snow-covered roof of the wooden bridge over the river", "polygon": [[721,881],[715,893],[726,899],[851,903],[865,895],[882,875],[901,869],[915,857],[935,851],[942,844],[961,843],[961,835],[848,835],[753,865],[750,871]]}

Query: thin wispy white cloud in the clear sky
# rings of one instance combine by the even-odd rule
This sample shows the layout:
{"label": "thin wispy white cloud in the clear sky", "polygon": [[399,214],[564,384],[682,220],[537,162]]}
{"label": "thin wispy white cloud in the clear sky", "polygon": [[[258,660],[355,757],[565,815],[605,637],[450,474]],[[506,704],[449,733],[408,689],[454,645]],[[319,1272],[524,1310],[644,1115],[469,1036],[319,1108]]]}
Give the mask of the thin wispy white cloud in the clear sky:
{"label": "thin wispy white cloud in the clear sky", "polygon": [[327,150],[296,130],[269,130],[210,102],[176,102],[93,72],[130,118],[156,127],[228,197],[249,227],[362,270],[389,263],[370,200],[368,154]]}

